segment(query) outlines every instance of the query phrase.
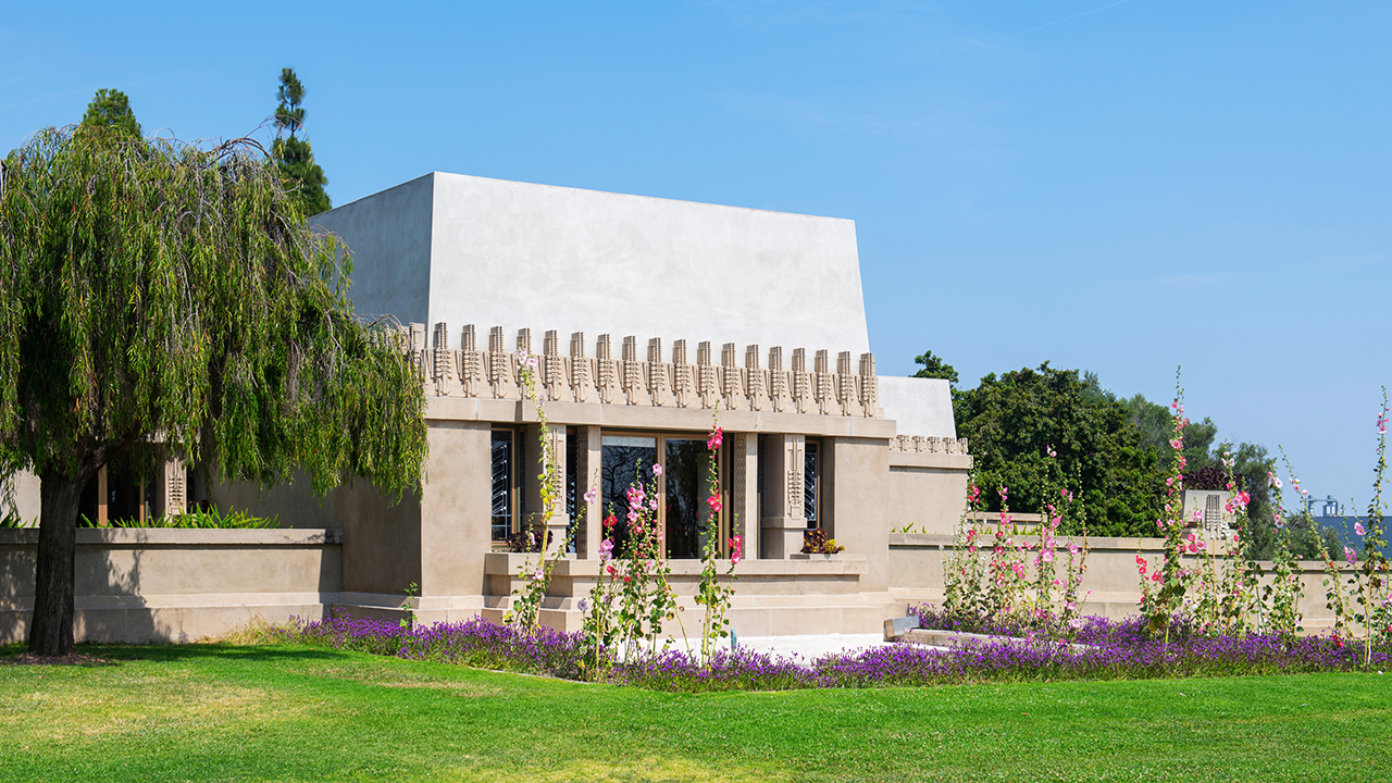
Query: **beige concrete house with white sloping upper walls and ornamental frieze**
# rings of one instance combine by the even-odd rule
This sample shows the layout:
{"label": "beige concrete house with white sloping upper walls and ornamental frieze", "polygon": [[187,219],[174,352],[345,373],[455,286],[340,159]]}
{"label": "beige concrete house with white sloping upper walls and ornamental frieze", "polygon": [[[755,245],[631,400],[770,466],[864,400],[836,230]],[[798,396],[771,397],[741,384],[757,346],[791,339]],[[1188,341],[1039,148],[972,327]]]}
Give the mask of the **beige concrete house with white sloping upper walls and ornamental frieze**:
{"label": "beige concrete house with white sloping upper walls and ornamental frieze", "polygon": [[[851,220],[432,173],[313,224],[352,249],[358,313],[404,325],[427,396],[426,479],[395,504],[363,482],[320,503],[308,482],[206,486],[171,463],[127,492],[131,509],[120,513],[210,502],[329,531],[313,546],[333,549],[326,557],[337,561],[306,577],[313,589],[292,589],[281,568],[274,578],[290,587],[271,591],[281,598],[260,591],[219,605],[270,619],[287,606],[391,612],[416,584],[425,621],[501,617],[521,557],[507,539],[546,525],[571,534],[572,553],[541,620],[575,628],[575,603],[597,575],[599,520],[635,475],[661,465],[679,594],[695,588],[704,536],[725,548],[739,535],[748,542],[731,613],[739,634],[867,633],[903,612],[891,528],[944,535],[960,515],[972,458],[956,439],[948,385],[877,373]],[[548,520],[537,518],[540,433],[519,392],[518,351],[539,359],[550,446],[564,463],[567,502]],[[717,414],[718,531],[699,514],[711,492],[702,460]],[[586,502],[592,486],[599,492]],[[93,518],[117,513],[110,488],[92,495]],[[802,556],[810,528],[845,552]],[[81,532],[93,542],[134,535]],[[248,539],[244,549],[256,546]],[[153,567],[146,560],[146,578]],[[79,581],[95,578],[82,573]],[[89,592],[134,589],[117,582]],[[163,589],[196,592],[185,588]],[[166,605],[207,603],[217,588],[199,589],[203,598]],[[81,585],[78,594],[81,616]],[[125,607],[141,612],[139,602]]]}

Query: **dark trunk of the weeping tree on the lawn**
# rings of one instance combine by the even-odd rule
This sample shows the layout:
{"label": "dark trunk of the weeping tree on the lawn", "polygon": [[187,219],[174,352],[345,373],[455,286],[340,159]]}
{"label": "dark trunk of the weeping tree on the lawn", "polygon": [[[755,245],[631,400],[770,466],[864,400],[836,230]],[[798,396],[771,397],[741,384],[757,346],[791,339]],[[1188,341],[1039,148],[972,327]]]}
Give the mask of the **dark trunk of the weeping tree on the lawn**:
{"label": "dark trunk of the weeping tree on the lawn", "polygon": [[[79,472],[81,476],[84,472]],[[77,560],[78,503],[81,478],[58,471],[39,476],[39,557],[33,578],[33,620],[29,623],[29,652],[33,655],[72,653],[74,563]]]}

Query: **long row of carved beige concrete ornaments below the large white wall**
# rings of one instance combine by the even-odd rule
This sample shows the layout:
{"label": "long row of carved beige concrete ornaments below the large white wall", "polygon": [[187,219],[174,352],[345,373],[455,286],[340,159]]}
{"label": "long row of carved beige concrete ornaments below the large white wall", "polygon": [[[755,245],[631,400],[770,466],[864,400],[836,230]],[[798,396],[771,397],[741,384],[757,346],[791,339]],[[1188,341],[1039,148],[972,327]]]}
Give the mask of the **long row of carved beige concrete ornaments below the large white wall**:
{"label": "long row of carved beige concrete ornaments below the large white wall", "polygon": [[445,323],[434,325],[432,339],[433,344],[427,346],[423,323],[402,327],[402,341],[420,369],[426,394],[434,397],[518,400],[522,397],[519,362],[522,357],[532,357],[537,368],[537,393],[546,401],[884,415],[874,354],[869,352],[853,362],[851,351],[841,351],[832,372],[831,354],[825,350],[816,351],[809,371],[806,348],[795,348],[792,365],[785,368],[782,347],[770,348],[767,366],[761,366],[764,352],[760,347],[745,346],[741,365],[735,343],[721,346],[720,364],[714,362],[711,343],[700,343],[693,365],[686,340],[677,340],[668,354],[661,339],[653,337],[647,351],[640,354],[638,337],[626,336],[615,357],[611,337],[600,334],[596,355],[590,357],[580,332],[571,334],[565,355],[555,330],[546,333],[540,352],[533,351],[530,329],[521,329],[516,340],[507,340],[503,327],[494,326],[486,350],[480,350],[473,325],[464,327],[458,348],[450,347]]}

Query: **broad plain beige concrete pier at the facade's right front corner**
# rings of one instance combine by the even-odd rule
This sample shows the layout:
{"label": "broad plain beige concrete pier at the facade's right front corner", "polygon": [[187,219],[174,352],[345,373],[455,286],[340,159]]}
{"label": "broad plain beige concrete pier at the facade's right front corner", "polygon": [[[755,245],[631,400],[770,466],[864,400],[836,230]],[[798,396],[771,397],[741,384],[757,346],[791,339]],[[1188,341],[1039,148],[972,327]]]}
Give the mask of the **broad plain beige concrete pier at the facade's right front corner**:
{"label": "broad plain beige concrete pier at the facade's right front corner", "polygon": [[827,437],[821,511],[827,536],[866,556],[862,589],[889,589],[889,444],[871,437]]}

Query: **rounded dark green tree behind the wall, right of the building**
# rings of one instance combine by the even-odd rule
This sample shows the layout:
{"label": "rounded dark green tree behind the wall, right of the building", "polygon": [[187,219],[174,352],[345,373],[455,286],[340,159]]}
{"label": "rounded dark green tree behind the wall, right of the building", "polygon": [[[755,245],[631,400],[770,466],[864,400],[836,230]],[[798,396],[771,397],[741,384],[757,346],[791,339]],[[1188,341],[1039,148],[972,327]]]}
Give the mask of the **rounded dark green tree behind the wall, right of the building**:
{"label": "rounded dark green tree behind the wall, right of the building", "polygon": [[1082,490],[1089,534],[1155,535],[1164,489],[1157,453],[1141,446],[1130,411],[1096,375],[1048,362],[991,373],[958,392],[954,408],[992,510],[997,488],[1009,489],[1012,509],[1034,513],[1052,502],[1041,496],[1044,486],[1068,483]]}

